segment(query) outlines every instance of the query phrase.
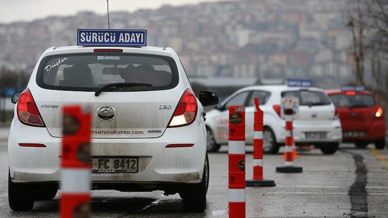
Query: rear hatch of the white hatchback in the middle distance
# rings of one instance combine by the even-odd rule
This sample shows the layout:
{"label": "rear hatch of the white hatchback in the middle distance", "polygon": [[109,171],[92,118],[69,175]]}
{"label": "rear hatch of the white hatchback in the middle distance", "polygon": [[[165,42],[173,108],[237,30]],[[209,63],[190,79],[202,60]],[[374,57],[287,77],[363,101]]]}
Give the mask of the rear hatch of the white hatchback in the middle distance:
{"label": "rear hatch of the white hatchback in the middle distance", "polygon": [[321,91],[285,91],[282,92],[282,97],[299,99],[299,117],[295,119],[295,125],[329,124],[334,118],[335,108],[327,95]]}

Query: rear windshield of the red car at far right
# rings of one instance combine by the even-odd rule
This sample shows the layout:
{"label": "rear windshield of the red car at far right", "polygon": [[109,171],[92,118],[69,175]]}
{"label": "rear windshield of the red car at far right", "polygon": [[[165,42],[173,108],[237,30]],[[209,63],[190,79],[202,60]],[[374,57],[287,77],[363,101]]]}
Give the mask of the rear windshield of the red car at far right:
{"label": "rear windshield of the red car at far right", "polygon": [[374,107],[376,102],[369,94],[333,94],[330,95],[334,105],[339,108],[369,108]]}

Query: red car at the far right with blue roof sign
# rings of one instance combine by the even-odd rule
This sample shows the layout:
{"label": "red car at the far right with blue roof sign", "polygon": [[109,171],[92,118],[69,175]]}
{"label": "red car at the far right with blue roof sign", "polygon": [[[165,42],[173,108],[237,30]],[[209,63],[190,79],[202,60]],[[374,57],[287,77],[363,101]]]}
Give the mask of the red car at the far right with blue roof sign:
{"label": "red car at the far right with blue roof sign", "polygon": [[384,149],[386,126],[383,109],[376,103],[372,92],[330,90],[326,93],[339,114],[343,142],[355,143],[357,148],[374,143],[377,149]]}

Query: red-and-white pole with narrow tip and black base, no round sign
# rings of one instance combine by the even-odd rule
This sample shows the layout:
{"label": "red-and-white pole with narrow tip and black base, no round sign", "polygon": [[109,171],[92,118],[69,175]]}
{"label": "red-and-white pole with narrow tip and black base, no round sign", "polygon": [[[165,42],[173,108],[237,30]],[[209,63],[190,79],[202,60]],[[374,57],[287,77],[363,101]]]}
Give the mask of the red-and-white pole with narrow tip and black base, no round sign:
{"label": "red-and-white pole with narrow tip and black base, no round sign", "polygon": [[247,187],[273,187],[274,180],[263,179],[263,111],[259,108],[259,99],[255,98],[253,125],[253,179],[246,180]]}

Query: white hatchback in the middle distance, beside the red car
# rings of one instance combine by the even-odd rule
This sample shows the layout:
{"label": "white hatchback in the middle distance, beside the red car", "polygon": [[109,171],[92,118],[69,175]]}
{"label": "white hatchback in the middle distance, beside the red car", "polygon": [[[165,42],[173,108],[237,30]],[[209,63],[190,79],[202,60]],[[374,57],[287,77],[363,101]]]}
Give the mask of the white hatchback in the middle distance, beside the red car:
{"label": "white hatchback in the middle distance, beside the red car", "polygon": [[263,150],[276,154],[285,143],[285,121],[280,117],[281,98],[299,98],[299,117],[294,120],[295,143],[313,144],[324,154],[334,154],[342,140],[338,113],[323,90],[318,88],[297,88],[285,85],[252,86],[233,93],[225,101],[207,113],[205,122],[208,132],[208,152],[216,152],[228,141],[228,107],[246,106],[246,144],[253,144],[254,99],[259,98],[264,112]]}

